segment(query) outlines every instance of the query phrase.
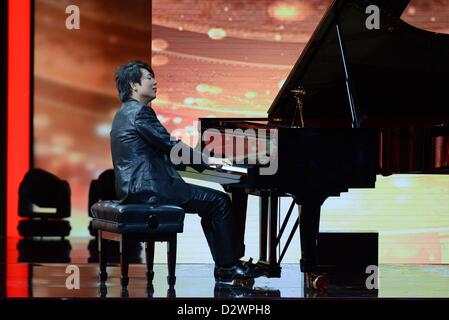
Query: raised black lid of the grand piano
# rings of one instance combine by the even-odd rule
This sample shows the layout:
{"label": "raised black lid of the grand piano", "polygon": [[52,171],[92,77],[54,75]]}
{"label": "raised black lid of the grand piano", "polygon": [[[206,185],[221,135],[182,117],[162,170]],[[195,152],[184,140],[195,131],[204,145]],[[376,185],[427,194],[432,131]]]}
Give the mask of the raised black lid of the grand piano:
{"label": "raised black lid of the grand piano", "polygon": [[[299,85],[304,120],[346,119],[351,112],[337,37],[340,24],[352,93],[365,124],[372,119],[449,120],[449,35],[400,19],[409,0],[335,0],[268,110],[272,123],[292,123]],[[369,30],[366,8],[380,9],[380,29]],[[316,123],[316,121],[315,121]],[[319,122],[318,122],[319,123]]]}

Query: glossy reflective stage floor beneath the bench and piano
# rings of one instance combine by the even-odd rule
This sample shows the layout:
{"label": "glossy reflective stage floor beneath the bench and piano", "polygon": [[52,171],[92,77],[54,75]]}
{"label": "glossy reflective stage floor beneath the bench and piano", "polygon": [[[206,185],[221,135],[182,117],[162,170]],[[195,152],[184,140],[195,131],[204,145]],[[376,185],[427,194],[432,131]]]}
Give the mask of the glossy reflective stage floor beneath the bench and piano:
{"label": "glossy reflective stage floor beneath the bench and piano", "polygon": [[[73,269],[68,264],[14,264],[6,284],[10,297],[120,297],[120,269],[108,268],[107,292],[101,292],[96,264],[77,264],[80,288],[74,286]],[[67,270],[67,273],[66,273]],[[213,265],[177,265],[175,291],[169,291],[166,282],[167,268],[155,265],[153,292],[147,292],[143,264],[130,267],[129,297],[251,297],[251,298],[303,298],[303,297],[449,297],[449,266],[436,265],[382,265],[379,290],[361,290],[341,283],[332,284],[327,293],[304,290],[299,265],[283,265],[281,278],[258,278],[252,286],[216,285]],[[69,288],[68,288],[69,287]]]}

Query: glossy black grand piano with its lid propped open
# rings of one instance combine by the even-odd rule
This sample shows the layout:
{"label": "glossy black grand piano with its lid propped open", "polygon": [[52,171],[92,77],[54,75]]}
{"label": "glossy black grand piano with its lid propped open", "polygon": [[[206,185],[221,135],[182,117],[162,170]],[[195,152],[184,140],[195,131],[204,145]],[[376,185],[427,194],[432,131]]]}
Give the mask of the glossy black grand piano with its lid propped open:
{"label": "glossy black grand piano with its lid propped open", "polygon": [[[402,21],[408,3],[334,1],[268,118],[200,119],[201,134],[211,129],[227,133],[224,149],[241,138],[232,137],[233,132],[252,132],[252,138],[258,130],[277,133],[274,143],[266,137],[278,165],[272,175],[261,175],[264,164],[249,161],[183,173],[223,185],[232,195],[241,237],[247,196],[260,197],[258,265],[268,277],[280,276],[280,262],[298,226],[301,271],[317,272],[320,208],[328,197],[349,188],[374,188],[378,174],[449,172],[449,35]],[[378,29],[367,27],[370,5],[380,10]],[[209,142],[203,141],[202,147]],[[292,203],[278,225],[279,198],[286,196]],[[278,256],[295,205],[299,215]]]}

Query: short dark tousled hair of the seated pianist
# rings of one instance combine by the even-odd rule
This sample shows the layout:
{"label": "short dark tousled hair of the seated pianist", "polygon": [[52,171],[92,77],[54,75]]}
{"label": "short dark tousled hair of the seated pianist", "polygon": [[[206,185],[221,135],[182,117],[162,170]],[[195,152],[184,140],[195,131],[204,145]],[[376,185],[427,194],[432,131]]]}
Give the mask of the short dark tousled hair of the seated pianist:
{"label": "short dark tousled hair of the seated pianist", "polygon": [[140,84],[142,72],[140,69],[146,69],[154,77],[154,71],[146,62],[134,60],[127,64],[122,64],[115,72],[115,85],[117,86],[120,101],[125,102],[131,96],[130,82]]}

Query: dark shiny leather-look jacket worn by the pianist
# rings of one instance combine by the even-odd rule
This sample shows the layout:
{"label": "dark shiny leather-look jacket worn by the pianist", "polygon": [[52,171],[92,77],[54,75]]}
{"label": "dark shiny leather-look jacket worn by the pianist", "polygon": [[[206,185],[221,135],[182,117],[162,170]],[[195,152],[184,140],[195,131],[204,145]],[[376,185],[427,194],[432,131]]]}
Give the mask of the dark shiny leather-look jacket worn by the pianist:
{"label": "dark shiny leather-look jacket worn by the pianist", "polygon": [[[121,203],[180,205],[189,199],[189,185],[170,161],[170,150],[182,142],[170,137],[151,107],[133,99],[124,102],[114,116],[110,135]],[[197,152],[183,145],[192,155]],[[192,167],[202,171],[206,166]]]}

